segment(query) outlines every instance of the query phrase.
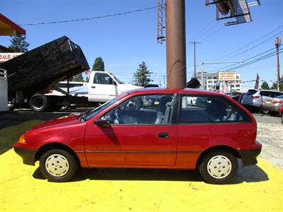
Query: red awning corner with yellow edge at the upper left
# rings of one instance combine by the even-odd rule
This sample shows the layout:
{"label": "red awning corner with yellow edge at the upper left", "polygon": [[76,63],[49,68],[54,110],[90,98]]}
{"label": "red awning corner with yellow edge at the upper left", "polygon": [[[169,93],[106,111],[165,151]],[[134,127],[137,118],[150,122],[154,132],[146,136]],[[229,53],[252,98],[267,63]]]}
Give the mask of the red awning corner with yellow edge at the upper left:
{"label": "red awning corner with yellow edge at the upper left", "polygon": [[25,30],[0,13],[0,35],[25,35]]}

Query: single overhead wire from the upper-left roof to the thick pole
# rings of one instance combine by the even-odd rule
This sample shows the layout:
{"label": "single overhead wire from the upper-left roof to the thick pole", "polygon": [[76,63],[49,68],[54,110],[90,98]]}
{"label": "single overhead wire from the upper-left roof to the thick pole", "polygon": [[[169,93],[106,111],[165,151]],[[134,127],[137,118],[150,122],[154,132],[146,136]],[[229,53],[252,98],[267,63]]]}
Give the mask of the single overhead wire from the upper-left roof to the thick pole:
{"label": "single overhead wire from the upper-left roof to the thick pole", "polygon": [[76,21],[83,21],[83,20],[94,20],[94,19],[100,19],[100,18],[109,18],[109,17],[113,17],[113,16],[123,16],[123,15],[127,15],[130,13],[138,13],[141,11],[149,11],[152,10],[154,8],[156,8],[157,6],[152,6],[152,7],[148,7],[148,8],[142,8],[142,9],[138,9],[135,11],[127,11],[127,12],[123,12],[123,13],[114,13],[114,14],[110,14],[110,15],[105,15],[105,16],[96,16],[96,17],[92,17],[92,18],[81,18],[81,19],[73,19],[73,20],[59,20],[59,21],[52,21],[52,22],[45,22],[45,23],[25,23],[25,24],[20,24],[20,25],[47,25],[47,24],[55,24],[55,23],[70,23],[70,22],[76,22]]}

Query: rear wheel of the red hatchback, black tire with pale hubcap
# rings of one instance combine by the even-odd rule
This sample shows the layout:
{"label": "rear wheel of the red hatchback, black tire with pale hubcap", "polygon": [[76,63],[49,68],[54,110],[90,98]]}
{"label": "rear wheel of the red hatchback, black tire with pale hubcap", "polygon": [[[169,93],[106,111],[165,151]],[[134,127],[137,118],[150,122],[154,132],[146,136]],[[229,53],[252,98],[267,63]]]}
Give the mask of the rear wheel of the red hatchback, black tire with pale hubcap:
{"label": "rear wheel of the red hatchback, black tire with pale hubcap", "polygon": [[216,150],[204,155],[199,170],[205,182],[225,184],[236,176],[238,161],[229,151]]}

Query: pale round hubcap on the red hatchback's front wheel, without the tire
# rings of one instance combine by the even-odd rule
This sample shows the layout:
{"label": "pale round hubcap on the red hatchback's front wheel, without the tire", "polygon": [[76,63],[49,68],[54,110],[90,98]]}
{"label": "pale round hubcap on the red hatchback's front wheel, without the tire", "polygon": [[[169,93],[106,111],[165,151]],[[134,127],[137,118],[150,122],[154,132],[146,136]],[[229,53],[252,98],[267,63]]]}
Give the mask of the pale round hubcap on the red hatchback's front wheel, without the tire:
{"label": "pale round hubcap on the red hatchback's front wheel, without the tire", "polygon": [[47,172],[54,177],[62,177],[69,170],[69,162],[63,155],[53,154],[45,160]]}

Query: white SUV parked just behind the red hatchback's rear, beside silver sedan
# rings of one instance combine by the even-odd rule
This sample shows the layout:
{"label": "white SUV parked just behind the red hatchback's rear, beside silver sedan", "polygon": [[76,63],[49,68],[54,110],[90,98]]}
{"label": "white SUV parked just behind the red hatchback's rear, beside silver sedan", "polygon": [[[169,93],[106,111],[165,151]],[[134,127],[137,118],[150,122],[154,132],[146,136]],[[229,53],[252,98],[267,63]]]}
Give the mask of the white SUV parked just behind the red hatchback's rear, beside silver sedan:
{"label": "white SUV parked just behind the red hatchback's rear, beside silver sedan", "polygon": [[267,98],[275,98],[278,95],[283,95],[283,93],[275,90],[250,89],[243,95],[241,104],[253,112],[258,112],[260,107],[262,107],[262,102]]}

